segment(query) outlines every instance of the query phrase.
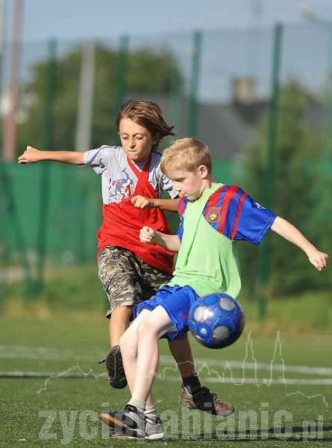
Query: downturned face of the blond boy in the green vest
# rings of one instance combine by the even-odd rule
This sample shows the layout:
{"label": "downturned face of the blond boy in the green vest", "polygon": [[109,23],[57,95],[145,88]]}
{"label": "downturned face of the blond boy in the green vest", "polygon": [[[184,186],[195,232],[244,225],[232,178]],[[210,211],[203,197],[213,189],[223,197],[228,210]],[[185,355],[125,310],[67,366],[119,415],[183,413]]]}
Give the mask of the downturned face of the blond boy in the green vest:
{"label": "downturned face of the blond boy in the green vest", "polygon": [[172,180],[179,195],[187,197],[190,201],[199,199],[202,193],[210,188],[210,184],[206,182],[208,168],[205,165],[199,166],[194,171],[171,169],[167,171],[167,177]]}

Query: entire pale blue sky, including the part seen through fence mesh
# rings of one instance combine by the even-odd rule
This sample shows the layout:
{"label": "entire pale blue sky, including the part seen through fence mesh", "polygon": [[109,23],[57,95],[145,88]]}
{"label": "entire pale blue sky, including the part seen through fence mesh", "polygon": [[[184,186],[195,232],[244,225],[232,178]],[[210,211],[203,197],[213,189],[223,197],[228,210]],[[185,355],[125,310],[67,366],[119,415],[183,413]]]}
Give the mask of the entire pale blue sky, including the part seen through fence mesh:
{"label": "entire pale blue sky, including the part seen through fence mesh", "polygon": [[[34,61],[46,57],[46,41],[57,39],[57,54],[82,39],[103,39],[118,46],[130,35],[130,48],[169,46],[190,79],[192,30],[204,33],[199,96],[225,101],[234,77],[255,78],[258,97],[270,88],[273,24],[285,28],[282,79],[299,79],[313,92],[324,88],[332,69],[332,0],[23,0],[24,46],[21,78],[27,79]],[[7,37],[12,0],[7,0]],[[319,20],[309,23],[300,6],[311,7]],[[248,30],[257,30],[250,32]],[[219,30],[219,32],[212,32]],[[330,44],[329,44],[330,35]],[[329,46],[331,47],[329,49]],[[8,79],[10,52],[5,52]]]}

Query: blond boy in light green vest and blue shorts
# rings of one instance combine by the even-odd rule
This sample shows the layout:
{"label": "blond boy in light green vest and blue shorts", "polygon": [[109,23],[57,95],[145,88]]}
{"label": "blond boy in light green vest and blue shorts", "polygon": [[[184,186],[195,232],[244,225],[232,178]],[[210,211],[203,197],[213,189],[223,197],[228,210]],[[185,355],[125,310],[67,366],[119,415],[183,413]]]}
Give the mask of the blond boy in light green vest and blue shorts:
{"label": "blond boy in light green vest and blue shorts", "polygon": [[[161,169],[181,195],[180,227],[177,235],[166,235],[145,226],[140,240],[178,252],[175,271],[154,298],[136,306],[136,319],[120,339],[131,399],[123,411],[100,415],[131,438],[164,436],[151,397],[158,369],[158,339],[174,340],[187,333],[190,308],[201,296],[224,292],[237,297],[241,289],[237,240],[259,244],[271,229],[302,249],[318,271],[328,262],[328,255],[318,251],[295,226],[259,205],[241,188],[212,182],[210,150],[199,140],[174,142],[163,153]],[[229,403],[224,405],[224,415],[234,411]]]}

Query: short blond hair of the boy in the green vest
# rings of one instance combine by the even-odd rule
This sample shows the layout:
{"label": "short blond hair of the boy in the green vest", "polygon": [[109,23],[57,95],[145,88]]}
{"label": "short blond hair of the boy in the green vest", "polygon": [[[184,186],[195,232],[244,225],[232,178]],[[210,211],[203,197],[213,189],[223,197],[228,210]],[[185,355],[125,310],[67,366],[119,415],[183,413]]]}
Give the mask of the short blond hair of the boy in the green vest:
{"label": "short blond hair of the boy in the green vest", "polygon": [[194,171],[201,165],[205,165],[209,173],[211,173],[210,149],[199,139],[192,137],[175,140],[171,146],[165,149],[160,161],[161,171],[165,175],[172,169]]}

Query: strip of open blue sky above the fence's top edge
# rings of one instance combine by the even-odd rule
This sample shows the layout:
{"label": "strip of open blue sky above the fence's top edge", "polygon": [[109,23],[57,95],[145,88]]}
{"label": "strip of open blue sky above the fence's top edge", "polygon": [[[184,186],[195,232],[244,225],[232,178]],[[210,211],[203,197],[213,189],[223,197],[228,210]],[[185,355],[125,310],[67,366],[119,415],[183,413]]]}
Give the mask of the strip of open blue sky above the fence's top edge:
{"label": "strip of open blue sky above the fence's top edge", "polygon": [[[7,3],[10,12],[12,0]],[[301,23],[301,3],[332,20],[332,0],[24,0],[23,35],[26,41],[91,39]]]}

